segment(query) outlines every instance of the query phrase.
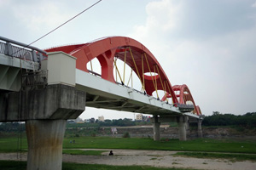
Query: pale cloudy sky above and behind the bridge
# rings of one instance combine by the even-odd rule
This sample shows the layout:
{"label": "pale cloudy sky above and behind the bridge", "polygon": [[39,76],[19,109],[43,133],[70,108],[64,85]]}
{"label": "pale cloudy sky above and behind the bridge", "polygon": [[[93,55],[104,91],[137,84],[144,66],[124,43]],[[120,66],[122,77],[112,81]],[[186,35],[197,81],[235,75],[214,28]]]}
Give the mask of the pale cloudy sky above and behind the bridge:
{"label": "pale cloudy sky above and behind the bridge", "polygon": [[[31,43],[96,0],[0,0],[0,35]],[[256,111],[256,0],[102,0],[38,42],[37,48],[131,37],[172,85],[187,84],[204,115]],[[85,108],[83,119],[134,118]]]}

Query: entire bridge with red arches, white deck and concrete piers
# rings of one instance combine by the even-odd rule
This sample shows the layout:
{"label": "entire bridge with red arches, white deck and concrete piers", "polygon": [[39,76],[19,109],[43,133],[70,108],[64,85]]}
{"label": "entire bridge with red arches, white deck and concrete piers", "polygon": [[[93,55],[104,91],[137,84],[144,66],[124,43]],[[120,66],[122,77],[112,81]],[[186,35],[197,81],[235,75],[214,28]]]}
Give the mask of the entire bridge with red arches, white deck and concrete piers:
{"label": "entire bridge with red arches, white deck and concrete piers", "polygon": [[[100,72],[93,71],[94,60]],[[188,86],[172,86],[154,55],[134,39],[41,50],[0,37],[0,122],[26,122],[27,169],[61,169],[67,119],[85,106],[150,114],[154,140],[160,140],[161,122],[177,122],[180,140],[189,122],[197,122],[202,136],[203,116]]]}

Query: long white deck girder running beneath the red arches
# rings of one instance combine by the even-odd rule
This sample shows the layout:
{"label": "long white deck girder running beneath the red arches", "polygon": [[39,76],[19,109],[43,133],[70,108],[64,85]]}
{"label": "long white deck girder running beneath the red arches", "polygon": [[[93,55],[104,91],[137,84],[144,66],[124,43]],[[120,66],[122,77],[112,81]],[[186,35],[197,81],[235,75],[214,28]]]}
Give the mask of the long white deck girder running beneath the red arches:
{"label": "long white deck girder running beneath the red arches", "polygon": [[79,69],[76,70],[76,88],[87,93],[86,106],[90,107],[150,115],[186,115],[199,118],[191,112],[183,113],[174,105],[144,95],[133,88],[126,88]]}

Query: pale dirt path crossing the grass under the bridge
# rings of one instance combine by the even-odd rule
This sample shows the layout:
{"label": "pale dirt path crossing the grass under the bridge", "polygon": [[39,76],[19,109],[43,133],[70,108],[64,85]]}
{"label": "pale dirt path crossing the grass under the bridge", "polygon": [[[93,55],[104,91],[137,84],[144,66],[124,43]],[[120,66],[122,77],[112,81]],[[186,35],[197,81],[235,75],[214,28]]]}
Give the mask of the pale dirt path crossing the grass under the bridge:
{"label": "pale dirt path crossing the grass under the bridge", "polygon": [[[63,161],[84,164],[105,164],[105,165],[143,165],[154,167],[183,167],[211,170],[252,170],[256,169],[256,162],[236,161],[231,162],[224,159],[198,159],[188,157],[176,157],[172,154],[175,151],[160,150],[113,150],[114,156],[108,156],[109,150],[102,153],[102,156],[75,156],[63,155]],[[26,154],[22,154],[22,161],[26,161]],[[0,160],[15,160],[17,154],[0,153]]]}

